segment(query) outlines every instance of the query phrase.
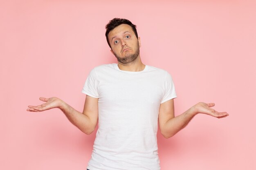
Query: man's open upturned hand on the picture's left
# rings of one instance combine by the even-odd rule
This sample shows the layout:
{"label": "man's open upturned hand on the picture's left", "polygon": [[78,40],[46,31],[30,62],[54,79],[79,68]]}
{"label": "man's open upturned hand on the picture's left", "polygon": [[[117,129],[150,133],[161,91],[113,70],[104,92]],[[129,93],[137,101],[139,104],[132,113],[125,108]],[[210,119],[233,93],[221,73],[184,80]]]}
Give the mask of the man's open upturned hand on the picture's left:
{"label": "man's open upturned hand on the picture's left", "polygon": [[27,109],[27,111],[41,112],[41,111],[49,110],[52,108],[61,108],[64,105],[64,102],[58,97],[51,97],[51,98],[40,97],[39,99],[46,103],[38,106],[28,106],[29,108]]}

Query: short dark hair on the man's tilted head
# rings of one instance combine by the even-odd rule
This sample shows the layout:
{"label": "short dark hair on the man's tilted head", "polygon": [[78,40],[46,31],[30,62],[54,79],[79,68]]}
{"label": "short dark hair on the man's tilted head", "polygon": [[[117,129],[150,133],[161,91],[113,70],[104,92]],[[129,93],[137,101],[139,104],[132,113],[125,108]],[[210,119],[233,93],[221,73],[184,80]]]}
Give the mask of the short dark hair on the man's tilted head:
{"label": "short dark hair on the man's tilted head", "polygon": [[[111,30],[113,30],[115,27],[121,25],[121,24],[128,24],[132,27],[132,30],[133,32],[135,33],[137,39],[138,39],[138,33],[137,33],[137,29],[136,29],[136,25],[135,24],[132,24],[132,22],[130,22],[129,20],[126,20],[126,19],[123,19],[123,18],[114,18],[112,20],[110,20],[108,22],[108,24],[106,25],[106,39],[107,39],[107,42],[108,42],[108,45],[110,46],[110,42],[108,40],[108,34]],[[111,46],[110,46],[110,49]]]}

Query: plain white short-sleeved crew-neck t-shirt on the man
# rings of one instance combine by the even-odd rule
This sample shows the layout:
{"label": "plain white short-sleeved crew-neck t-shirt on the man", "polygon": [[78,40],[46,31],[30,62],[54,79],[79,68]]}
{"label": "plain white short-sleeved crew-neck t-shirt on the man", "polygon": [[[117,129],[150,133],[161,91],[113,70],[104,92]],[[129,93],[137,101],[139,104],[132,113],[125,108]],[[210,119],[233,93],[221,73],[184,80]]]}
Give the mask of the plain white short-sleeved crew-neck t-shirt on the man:
{"label": "plain white short-sleeved crew-neck t-shirt on the man", "polygon": [[89,170],[160,170],[160,104],[176,97],[171,75],[148,66],[122,71],[117,64],[92,69],[83,93],[99,98],[99,129]]}

